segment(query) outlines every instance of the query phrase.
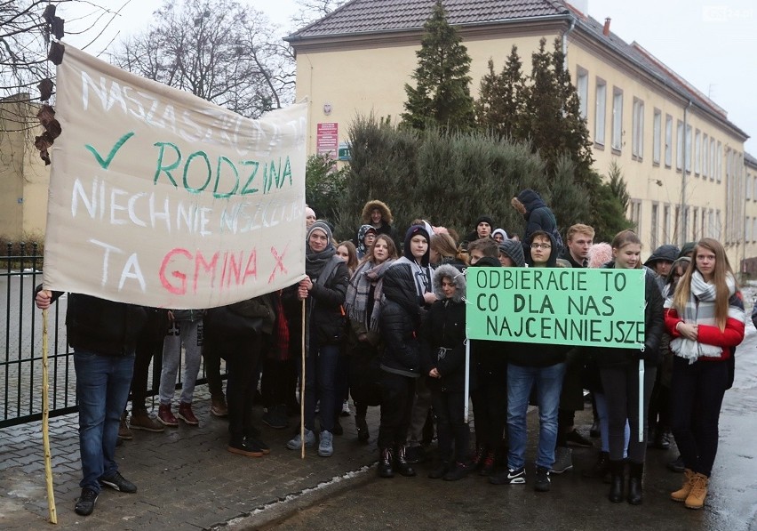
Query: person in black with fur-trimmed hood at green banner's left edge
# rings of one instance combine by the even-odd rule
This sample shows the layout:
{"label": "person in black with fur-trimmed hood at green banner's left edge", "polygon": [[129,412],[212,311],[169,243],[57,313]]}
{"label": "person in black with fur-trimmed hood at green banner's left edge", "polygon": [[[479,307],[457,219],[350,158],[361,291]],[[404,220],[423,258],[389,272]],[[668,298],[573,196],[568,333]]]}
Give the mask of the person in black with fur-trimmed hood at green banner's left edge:
{"label": "person in black with fur-trimmed hood at green banner's left edge", "polygon": [[[433,285],[439,300],[431,306],[420,330],[421,371],[428,375],[440,455],[439,466],[428,477],[453,481],[470,470],[470,429],[465,422],[466,277],[444,264],[434,270]],[[454,466],[450,466],[453,441]]]}

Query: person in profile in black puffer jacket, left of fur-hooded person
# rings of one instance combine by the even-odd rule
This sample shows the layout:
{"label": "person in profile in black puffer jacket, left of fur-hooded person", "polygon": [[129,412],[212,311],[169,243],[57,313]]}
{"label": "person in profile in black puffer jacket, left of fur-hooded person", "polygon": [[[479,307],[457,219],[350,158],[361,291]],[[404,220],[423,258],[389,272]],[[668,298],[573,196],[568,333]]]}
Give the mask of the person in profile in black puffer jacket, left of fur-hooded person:
{"label": "person in profile in black puffer jacket, left of fur-hooded person", "polygon": [[384,275],[384,302],[379,316],[384,339],[379,424],[381,478],[393,478],[394,466],[403,476],[415,476],[415,470],[405,459],[410,413],[420,376],[421,308],[413,277],[413,271],[406,265],[393,265]]}

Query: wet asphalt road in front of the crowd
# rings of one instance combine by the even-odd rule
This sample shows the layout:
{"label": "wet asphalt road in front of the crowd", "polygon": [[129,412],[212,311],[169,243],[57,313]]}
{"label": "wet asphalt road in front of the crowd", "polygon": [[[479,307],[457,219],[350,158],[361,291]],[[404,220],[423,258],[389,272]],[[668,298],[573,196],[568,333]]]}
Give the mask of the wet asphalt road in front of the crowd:
{"label": "wet asphalt road in front of the crowd", "polygon": [[[595,450],[576,448],[574,471],[553,477],[552,491],[525,486],[492,486],[470,476],[457,482],[426,479],[429,465],[416,478],[379,479],[375,471],[360,485],[323,503],[277,521],[281,529],[665,529],[666,531],[749,531],[757,529],[757,337],[750,326],[739,348],[737,382],[721,414],[720,448],[705,509],[690,511],[668,499],[681,487],[681,474],[665,469],[676,456],[650,449],[641,506],[610,503],[608,486],[581,477],[594,463]],[[581,415],[582,430],[591,422]],[[530,414],[530,425],[536,423]],[[530,431],[533,443],[535,433]],[[530,447],[531,458],[535,447]],[[532,466],[532,463],[531,463]]]}

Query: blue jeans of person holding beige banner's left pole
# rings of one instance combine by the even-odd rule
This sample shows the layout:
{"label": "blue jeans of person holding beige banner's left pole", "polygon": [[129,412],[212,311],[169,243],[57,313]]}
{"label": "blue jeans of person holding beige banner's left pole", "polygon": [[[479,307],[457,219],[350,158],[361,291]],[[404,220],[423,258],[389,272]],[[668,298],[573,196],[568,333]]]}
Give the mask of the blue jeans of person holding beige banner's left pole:
{"label": "blue jeans of person holding beige banner's left pole", "polygon": [[89,487],[99,493],[99,479],[118,471],[115,460],[118,424],[129,398],[134,353],[116,357],[74,350],[74,367],[79,403],[79,453],[84,474],[79,487]]}

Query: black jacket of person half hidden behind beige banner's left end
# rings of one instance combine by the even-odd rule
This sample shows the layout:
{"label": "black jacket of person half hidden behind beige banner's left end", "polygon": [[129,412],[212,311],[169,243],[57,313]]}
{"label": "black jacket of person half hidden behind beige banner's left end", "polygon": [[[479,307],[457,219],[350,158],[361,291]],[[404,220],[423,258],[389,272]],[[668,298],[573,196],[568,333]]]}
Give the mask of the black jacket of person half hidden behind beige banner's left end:
{"label": "black jacket of person half hidden behind beige banner's left end", "polygon": [[[53,292],[52,301],[61,294]],[[68,344],[75,350],[89,350],[101,356],[133,354],[146,324],[147,310],[142,306],[68,294],[66,330]]]}

